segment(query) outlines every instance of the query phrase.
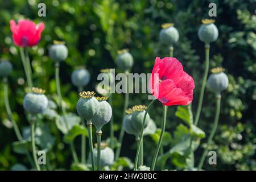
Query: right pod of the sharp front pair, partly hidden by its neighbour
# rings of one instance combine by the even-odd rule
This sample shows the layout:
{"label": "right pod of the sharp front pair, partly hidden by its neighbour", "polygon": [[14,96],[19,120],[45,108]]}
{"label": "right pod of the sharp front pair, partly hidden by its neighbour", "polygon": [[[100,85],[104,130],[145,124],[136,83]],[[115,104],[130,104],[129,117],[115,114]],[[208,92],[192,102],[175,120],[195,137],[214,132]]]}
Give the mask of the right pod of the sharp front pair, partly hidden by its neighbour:
{"label": "right pod of the sharp front pair, partly hidden by its neighbour", "polygon": [[102,126],[106,125],[112,117],[112,108],[106,100],[108,97],[96,97],[99,103],[99,110],[92,118],[92,124],[96,127],[96,133],[101,133]]}

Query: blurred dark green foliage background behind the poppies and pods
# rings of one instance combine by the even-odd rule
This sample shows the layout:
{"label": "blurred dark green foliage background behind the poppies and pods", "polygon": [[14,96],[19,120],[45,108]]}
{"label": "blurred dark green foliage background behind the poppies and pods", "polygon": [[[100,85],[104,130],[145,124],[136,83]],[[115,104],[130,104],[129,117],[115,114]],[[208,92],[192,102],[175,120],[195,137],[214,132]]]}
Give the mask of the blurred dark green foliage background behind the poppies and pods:
{"label": "blurred dark green foliage background behind the poppies and pods", "polygon": [[[100,69],[116,68],[115,56],[118,49],[129,48],[134,56],[133,73],[151,73],[156,56],[169,55],[165,46],[159,43],[161,24],[173,22],[180,33],[179,42],[174,47],[175,57],[184,69],[193,76],[196,83],[193,113],[199,97],[199,88],[204,71],[204,44],[197,36],[201,19],[208,17],[208,5],[217,5],[216,26],[219,38],[210,47],[210,68],[221,66],[226,69],[229,87],[222,94],[220,124],[211,147],[217,152],[217,165],[205,165],[213,170],[255,170],[256,150],[256,16],[255,0],[220,1],[89,1],[53,0],[46,4],[46,17],[38,16],[38,0],[0,0],[0,57],[9,59],[14,65],[10,77],[10,102],[14,119],[20,129],[28,126],[22,101],[24,97],[24,72],[18,47],[11,39],[10,19],[29,18],[44,22],[46,28],[42,40],[30,49],[33,78],[36,86],[47,90],[47,95],[57,101],[53,60],[48,57],[48,47],[53,40],[64,40],[69,56],[61,63],[61,91],[69,112],[76,113],[77,88],[71,84],[71,73],[78,65],[85,65],[91,74],[86,90],[95,90]],[[26,80],[26,79],[25,79]],[[16,141],[10,121],[7,119],[3,102],[3,86],[0,83],[0,169],[9,170],[17,163],[28,166],[26,155],[14,151]],[[146,94],[131,94],[129,106],[148,104]],[[122,121],[123,95],[114,94],[115,136],[118,137]],[[175,117],[176,106],[168,110],[168,137],[164,152],[175,142],[174,131],[185,125]],[[59,112],[59,110],[56,110]],[[158,103],[150,113],[160,127],[162,107]],[[214,117],[214,95],[206,89],[199,127],[208,136]],[[69,147],[63,143],[63,135],[56,127],[54,119],[44,119],[46,129],[43,141],[51,145],[47,156],[52,168],[70,169],[72,156]],[[103,139],[108,137],[109,126],[105,127]],[[146,137],[144,146],[145,164],[148,166],[156,147],[154,136]],[[205,143],[207,138],[201,140]],[[40,142],[39,141],[39,142]],[[79,153],[80,139],[75,141]],[[43,146],[43,144],[42,144]],[[134,161],[136,143],[134,137],[125,135],[121,156]],[[203,152],[201,145],[195,152],[197,164]],[[185,168],[183,156],[172,156],[166,168]],[[122,165],[129,169],[129,160]],[[120,164],[121,165],[121,164]]]}

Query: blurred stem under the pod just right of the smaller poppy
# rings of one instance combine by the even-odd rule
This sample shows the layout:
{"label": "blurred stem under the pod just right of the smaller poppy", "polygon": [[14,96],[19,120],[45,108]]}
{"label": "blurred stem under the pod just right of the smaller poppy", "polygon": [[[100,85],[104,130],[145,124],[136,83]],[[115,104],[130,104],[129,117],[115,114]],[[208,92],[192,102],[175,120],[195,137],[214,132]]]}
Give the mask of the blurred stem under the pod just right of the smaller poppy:
{"label": "blurred stem under the pod just right of the smaller poppy", "polygon": [[63,100],[62,100],[61,90],[60,90],[60,64],[59,63],[55,64],[55,81],[56,81],[57,95],[59,97],[59,107],[61,108],[61,111],[63,113],[64,122],[68,129],[68,121],[67,121],[67,117],[66,117],[67,113],[66,113],[65,107],[63,106]]}

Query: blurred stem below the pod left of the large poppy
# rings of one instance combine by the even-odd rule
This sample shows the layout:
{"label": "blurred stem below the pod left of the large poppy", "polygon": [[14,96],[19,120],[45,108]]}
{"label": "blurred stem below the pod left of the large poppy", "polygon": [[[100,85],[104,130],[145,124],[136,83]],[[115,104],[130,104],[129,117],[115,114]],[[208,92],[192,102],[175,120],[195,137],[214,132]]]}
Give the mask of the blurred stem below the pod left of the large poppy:
{"label": "blurred stem below the pod left of the large poppy", "polygon": [[[126,93],[125,93],[125,105],[123,106],[123,118],[125,117],[125,110],[127,109],[128,105],[129,105],[129,76],[128,76],[128,74],[126,77],[126,86],[127,87],[126,87]],[[115,152],[115,160],[119,159],[124,134],[125,134],[125,129],[123,128],[123,126],[121,124],[121,131],[120,131],[119,139],[118,139],[119,146],[117,147],[117,151]]]}

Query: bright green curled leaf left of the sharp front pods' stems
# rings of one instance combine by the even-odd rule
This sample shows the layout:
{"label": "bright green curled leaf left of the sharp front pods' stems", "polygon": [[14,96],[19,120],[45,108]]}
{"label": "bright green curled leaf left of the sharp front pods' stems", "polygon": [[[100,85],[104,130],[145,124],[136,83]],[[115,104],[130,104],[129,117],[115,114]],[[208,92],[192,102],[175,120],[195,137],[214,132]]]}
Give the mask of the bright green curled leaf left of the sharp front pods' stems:
{"label": "bright green curled leaf left of the sharp front pods' stems", "polygon": [[75,126],[72,127],[71,130],[68,131],[67,134],[65,134],[64,142],[71,143],[79,135],[84,135],[85,137],[87,137],[88,132],[87,132],[87,130],[84,126],[75,125]]}

